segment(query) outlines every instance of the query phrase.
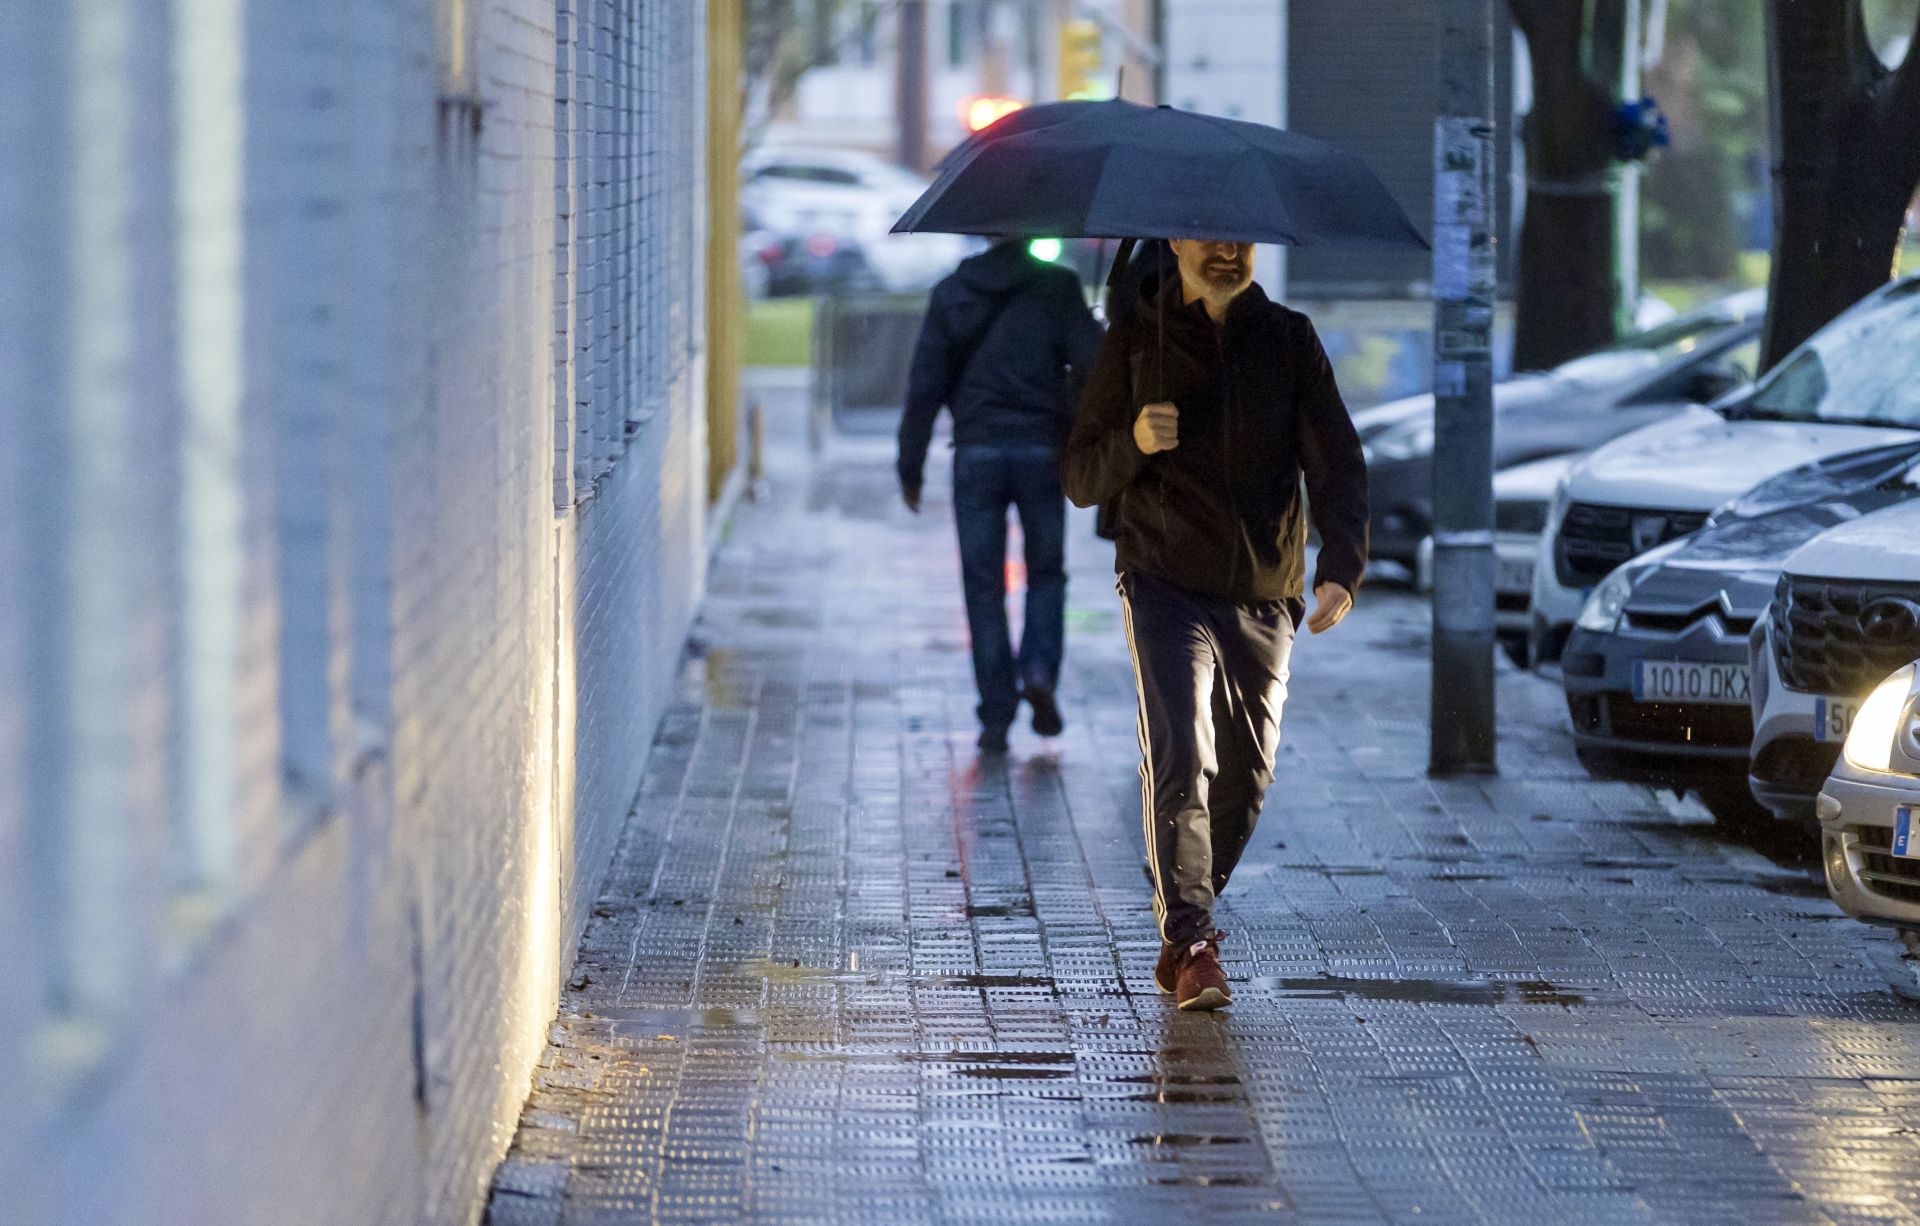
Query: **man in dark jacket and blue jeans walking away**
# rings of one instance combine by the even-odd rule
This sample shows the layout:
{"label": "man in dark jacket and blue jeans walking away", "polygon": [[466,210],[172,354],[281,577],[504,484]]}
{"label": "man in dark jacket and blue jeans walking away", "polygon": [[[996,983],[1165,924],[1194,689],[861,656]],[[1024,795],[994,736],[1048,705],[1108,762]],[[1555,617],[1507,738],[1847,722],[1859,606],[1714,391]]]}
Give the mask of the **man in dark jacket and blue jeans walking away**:
{"label": "man in dark jacket and blue jeans walking away", "polygon": [[[952,413],[954,526],[979,689],[979,748],[1006,750],[1020,698],[1033,731],[1062,729],[1054,687],[1066,643],[1066,497],[1060,445],[1079,378],[1100,349],[1100,324],[1079,278],[1002,238],[933,288],[914,345],[900,418],[899,474],[906,507],[920,487],[933,420]],[[1020,512],[1027,610],[1020,654],[1006,624],[1006,508]]]}

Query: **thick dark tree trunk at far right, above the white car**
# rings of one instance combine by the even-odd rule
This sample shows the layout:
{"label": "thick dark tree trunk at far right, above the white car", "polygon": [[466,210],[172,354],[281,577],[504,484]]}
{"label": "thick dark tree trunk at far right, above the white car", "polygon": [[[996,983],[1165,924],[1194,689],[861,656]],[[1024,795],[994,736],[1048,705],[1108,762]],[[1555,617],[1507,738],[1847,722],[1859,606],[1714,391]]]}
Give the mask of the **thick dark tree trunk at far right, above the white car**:
{"label": "thick dark tree trunk at far right, above the white car", "polygon": [[1920,182],[1920,56],[1887,71],[1859,0],[1770,0],[1774,259],[1761,365],[1893,274]]}

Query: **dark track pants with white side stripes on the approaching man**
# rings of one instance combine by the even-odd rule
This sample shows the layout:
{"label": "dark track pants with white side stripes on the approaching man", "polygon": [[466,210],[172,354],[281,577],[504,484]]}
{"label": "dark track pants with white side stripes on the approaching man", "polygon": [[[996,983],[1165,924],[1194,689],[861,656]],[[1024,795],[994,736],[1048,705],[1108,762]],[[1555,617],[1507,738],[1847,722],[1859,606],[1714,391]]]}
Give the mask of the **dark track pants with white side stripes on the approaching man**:
{"label": "dark track pants with white side stripes on the approaching man", "polygon": [[1213,900],[1273,783],[1294,648],[1292,601],[1229,604],[1154,576],[1119,578],[1140,695],[1140,821],[1160,938],[1213,932]]}

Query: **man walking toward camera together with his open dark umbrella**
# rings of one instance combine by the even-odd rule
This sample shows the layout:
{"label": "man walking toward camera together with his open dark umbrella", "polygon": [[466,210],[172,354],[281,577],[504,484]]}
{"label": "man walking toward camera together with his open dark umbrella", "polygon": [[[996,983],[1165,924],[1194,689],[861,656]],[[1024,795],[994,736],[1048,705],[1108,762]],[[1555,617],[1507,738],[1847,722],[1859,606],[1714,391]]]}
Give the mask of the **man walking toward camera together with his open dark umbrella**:
{"label": "man walking toward camera together with his open dark umbrella", "polygon": [[1117,499],[1162,940],[1154,982],[1183,1009],[1217,1009],[1231,992],[1213,900],[1273,781],[1286,662],[1306,616],[1308,516],[1321,535],[1309,631],[1346,616],[1367,564],[1359,439],[1313,324],[1252,284],[1250,244],[1427,240],[1348,150],[1119,100],[1014,111],[948,155],[895,223],[948,234],[1021,226],[1179,236],[1177,271],[1137,309],[1110,309],[1062,482],[1081,507]]}

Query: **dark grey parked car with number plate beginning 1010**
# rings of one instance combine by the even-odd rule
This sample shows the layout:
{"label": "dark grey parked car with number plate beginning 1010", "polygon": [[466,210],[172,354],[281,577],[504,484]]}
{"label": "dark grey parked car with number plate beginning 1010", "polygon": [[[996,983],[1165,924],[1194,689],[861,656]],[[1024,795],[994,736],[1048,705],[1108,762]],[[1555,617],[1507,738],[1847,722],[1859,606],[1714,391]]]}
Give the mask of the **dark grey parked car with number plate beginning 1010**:
{"label": "dark grey parked car with number plate beginning 1010", "polygon": [[1699,531],[1619,566],[1561,656],[1574,752],[1599,779],[1697,792],[1715,817],[1768,817],[1747,790],[1747,639],[1788,554],[1920,495],[1920,437],[1763,482]]}

